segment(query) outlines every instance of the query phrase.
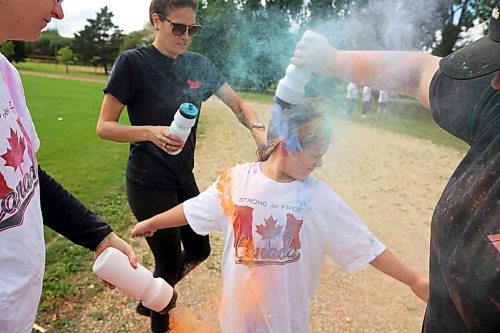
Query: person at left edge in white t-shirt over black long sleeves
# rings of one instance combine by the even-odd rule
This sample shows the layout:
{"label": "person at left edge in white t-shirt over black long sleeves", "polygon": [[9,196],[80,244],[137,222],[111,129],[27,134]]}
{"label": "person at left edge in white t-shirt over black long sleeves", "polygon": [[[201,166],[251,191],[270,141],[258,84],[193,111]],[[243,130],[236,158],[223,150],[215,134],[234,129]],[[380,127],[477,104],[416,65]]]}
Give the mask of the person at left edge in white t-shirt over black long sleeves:
{"label": "person at left edge in white t-shirt over black long sleeves", "polygon": [[[64,16],[62,0],[0,2],[0,44],[35,41],[52,19]],[[95,251],[132,247],[50,177],[38,164],[40,141],[18,71],[0,54],[0,331],[31,333],[45,268],[43,226]],[[104,282],[105,285],[110,286]]]}

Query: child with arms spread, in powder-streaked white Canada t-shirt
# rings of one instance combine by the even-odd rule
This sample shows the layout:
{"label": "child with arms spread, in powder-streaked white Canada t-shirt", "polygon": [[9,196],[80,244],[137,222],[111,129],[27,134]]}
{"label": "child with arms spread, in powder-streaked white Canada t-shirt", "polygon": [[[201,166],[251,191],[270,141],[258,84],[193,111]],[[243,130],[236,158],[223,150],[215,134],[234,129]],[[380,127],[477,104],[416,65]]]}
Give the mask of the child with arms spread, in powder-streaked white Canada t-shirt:
{"label": "child with arms spread, in powder-streaked white Canada t-shirt", "polygon": [[308,332],[324,255],[348,272],[370,263],[427,301],[428,280],[398,260],[325,183],[310,176],[331,140],[312,106],[276,108],[259,162],[233,167],[206,191],[140,222],[132,236],[189,224],[224,236],[222,332]]}

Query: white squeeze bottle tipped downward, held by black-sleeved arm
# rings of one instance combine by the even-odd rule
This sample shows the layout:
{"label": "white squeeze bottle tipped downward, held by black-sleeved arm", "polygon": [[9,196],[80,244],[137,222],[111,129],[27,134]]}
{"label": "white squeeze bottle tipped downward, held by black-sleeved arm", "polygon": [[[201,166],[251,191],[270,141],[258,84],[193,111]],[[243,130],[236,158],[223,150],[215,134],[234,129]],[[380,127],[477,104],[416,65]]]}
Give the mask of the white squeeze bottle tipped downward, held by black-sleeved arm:
{"label": "white squeeze bottle tipped downward, held by black-sleeved arm", "polygon": [[101,279],[113,284],[132,298],[159,313],[167,313],[177,300],[177,292],[162,278],[153,274],[141,264],[134,269],[125,253],[108,247],[97,257],[92,267]]}

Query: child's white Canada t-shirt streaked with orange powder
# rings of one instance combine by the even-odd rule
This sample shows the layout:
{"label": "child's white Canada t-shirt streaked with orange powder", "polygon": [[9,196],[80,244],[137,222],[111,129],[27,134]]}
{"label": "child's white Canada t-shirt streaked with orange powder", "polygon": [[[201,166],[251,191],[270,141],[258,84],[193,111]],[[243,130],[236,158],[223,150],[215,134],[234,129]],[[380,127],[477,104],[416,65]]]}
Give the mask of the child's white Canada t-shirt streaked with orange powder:
{"label": "child's white Canada t-shirt streaked with orange powder", "polygon": [[324,256],[353,272],[385,249],[325,183],[278,183],[261,163],[232,168],[184,213],[198,234],[223,234],[224,333],[308,332]]}

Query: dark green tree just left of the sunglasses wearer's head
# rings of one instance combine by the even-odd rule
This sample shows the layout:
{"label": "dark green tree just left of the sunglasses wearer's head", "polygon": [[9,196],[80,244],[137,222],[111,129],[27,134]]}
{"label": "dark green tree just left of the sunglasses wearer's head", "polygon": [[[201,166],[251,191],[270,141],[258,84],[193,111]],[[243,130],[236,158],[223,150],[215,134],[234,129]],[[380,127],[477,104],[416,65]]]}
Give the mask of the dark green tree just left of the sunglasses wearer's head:
{"label": "dark green tree just left of the sunglasses wearer's head", "polygon": [[111,20],[113,16],[107,6],[101,8],[96,19],[87,19],[88,24],[75,33],[73,40],[73,49],[80,60],[84,64],[103,66],[106,74],[123,42],[122,31]]}

